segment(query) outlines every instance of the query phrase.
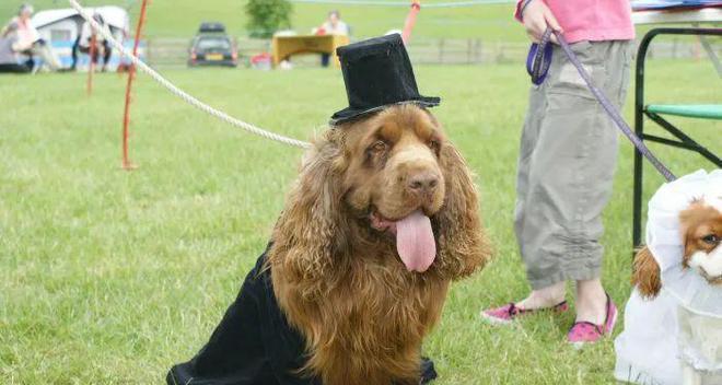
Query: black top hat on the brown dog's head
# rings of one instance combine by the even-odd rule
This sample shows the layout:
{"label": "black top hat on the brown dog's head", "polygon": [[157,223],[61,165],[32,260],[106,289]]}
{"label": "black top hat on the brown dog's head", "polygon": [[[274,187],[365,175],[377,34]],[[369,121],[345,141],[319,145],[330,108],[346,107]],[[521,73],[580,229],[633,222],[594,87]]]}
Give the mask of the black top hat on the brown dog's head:
{"label": "black top hat on the brown dog's head", "polygon": [[419,95],[414,69],[399,34],[374,37],[339,47],[349,107],[331,116],[339,125],[393,104],[438,106],[439,97]]}

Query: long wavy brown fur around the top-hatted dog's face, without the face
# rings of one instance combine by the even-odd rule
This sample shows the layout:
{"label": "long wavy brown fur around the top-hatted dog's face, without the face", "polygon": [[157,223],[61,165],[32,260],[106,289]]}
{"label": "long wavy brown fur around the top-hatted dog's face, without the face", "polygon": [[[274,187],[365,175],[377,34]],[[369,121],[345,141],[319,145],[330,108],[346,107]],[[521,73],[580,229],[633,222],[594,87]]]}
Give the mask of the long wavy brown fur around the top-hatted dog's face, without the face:
{"label": "long wavy brown fur around the top-hatted dog's face, without the face", "polygon": [[[443,205],[430,215],[436,258],[423,273],[407,271],[393,237],[371,229],[371,202],[349,203],[350,191],[373,176],[358,156],[374,125],[397,133],[430,125],[436,136]],[[275,294],[306,341],[302,373],[325,385],[418,384],[421,341],[440,318],[450,282],[490,256],[465,161],[436,119],[411,105],[325,131],[303,162],[272,241]]]}

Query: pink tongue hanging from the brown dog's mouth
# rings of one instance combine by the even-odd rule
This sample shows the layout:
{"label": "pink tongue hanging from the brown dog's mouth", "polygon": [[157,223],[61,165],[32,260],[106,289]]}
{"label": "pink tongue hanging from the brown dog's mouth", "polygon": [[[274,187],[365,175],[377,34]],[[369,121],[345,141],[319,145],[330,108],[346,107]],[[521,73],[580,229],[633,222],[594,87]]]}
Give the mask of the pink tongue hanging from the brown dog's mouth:
{"label": "pink tongue hanging from the brown dog's mouth", "polygon": [[409,271],[427,271],[436,256],[429,217],[414,211],[396,222],[396,249]]}

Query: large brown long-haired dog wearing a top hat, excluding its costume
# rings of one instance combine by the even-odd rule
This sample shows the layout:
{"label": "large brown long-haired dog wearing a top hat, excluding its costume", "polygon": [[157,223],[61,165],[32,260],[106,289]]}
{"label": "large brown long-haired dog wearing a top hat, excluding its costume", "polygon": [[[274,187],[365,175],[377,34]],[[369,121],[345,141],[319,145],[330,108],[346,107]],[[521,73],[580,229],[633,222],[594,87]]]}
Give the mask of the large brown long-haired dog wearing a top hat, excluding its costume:
{"label": "large brown long-haired dog wearing a top hat, excluding its costume", "polygon": [[464,160],[410,104],[326,131],[272,240],[273,292],[325,385],[418,384],[450,282],[490,255]]}

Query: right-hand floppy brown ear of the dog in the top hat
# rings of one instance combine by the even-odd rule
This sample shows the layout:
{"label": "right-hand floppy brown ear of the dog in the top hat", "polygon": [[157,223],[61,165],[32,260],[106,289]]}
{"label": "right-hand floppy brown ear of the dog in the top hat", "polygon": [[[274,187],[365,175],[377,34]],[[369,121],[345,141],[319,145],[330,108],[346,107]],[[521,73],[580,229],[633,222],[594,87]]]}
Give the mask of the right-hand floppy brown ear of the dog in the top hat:
{"label": "right-hand floppy brown ear of the dog in the top hat", "polygon": [[439,272],[459,279],[484,267],[491,247],[481,228],[476,187],[466,162],[449,141],[442,144],[439,164],[446,184],[444,203],[436,214]]}

